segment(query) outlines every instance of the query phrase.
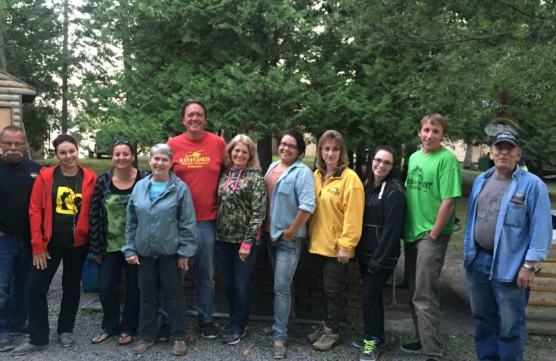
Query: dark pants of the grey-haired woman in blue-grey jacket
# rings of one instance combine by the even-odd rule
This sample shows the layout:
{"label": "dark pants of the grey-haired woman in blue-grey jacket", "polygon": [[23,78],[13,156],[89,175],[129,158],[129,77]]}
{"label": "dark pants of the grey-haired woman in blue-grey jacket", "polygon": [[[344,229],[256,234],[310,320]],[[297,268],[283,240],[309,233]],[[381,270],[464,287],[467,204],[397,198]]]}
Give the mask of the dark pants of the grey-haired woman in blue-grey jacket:
{"label": "dark pants of the grey-haired woman in blue-grey jacket", "polygon": [[139,256],[139,333],[145,342],[156,339],[158,330],[158,294],[162,290],[164,308],[170,321],[170,337],[186,339],[186,298],[178,255]]}

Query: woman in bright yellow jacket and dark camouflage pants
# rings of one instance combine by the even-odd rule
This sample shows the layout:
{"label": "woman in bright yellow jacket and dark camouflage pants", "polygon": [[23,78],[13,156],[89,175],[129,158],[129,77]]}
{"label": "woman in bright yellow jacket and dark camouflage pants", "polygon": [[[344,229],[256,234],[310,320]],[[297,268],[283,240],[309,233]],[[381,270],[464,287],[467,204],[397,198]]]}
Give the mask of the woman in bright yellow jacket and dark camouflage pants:
{"label": "woman in bright yellow jacket and dark camouflage pants", "polygon": [[340,339],[343,276],[363,226],[363,184],[347,164],[342,135],[326,131],[317,145],[317,207],[309,225],[309,252],[322,267],[324,280],[326,320],[309,335],[313,349],[319,351],[330,349]]}

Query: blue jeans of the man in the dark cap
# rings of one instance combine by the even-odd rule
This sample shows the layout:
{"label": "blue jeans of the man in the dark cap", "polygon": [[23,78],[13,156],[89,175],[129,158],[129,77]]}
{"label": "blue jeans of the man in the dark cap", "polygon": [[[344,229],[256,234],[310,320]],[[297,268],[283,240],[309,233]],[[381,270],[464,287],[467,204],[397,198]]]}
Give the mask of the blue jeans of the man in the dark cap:
{"label": "blue jeans of the man in the dark cap", "polygon": [[514,282],[489,280],[492,256],[477,252],[466,267],[469,299],[479,360],[523,360],[525,350],[525,307],[530,289]]}

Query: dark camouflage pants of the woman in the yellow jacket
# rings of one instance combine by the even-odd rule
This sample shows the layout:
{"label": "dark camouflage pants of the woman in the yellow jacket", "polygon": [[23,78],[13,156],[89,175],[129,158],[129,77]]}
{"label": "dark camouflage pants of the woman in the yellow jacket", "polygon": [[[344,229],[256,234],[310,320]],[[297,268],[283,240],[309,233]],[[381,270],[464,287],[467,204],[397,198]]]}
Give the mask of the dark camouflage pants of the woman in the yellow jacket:
{"label": "dark camouflage pants of the woman in the yellow jacket", "polygon": [[339,332],[342,320],[342,284],[345,268],[347,265],[338,262],[336,257],[325,257],[324,255],[313,255],[319,269],[322,269],[322,280],[325,294],[325,317],[326,326],[332,328],[334,333]]}

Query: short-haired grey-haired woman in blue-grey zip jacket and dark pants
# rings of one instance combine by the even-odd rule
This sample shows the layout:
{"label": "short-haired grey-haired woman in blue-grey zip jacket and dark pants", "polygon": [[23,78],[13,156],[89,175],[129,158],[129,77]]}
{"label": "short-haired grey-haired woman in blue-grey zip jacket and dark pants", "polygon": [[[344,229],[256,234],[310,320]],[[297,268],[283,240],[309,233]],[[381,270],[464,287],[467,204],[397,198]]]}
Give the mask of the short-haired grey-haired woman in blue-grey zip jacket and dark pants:
{"label": "short-haired grey-haired woman in blue-grey zip jacket and dark pants", "polygon": [[197,227],[189,188],[170,171],[172,156],[166,144],[151,148],[152,176],[137,183],[127,205],[126,245],[122,251],[127,262],[139,265],[141,339],[133,347],[137,355],[147,351],[156,339],[161,290],[174,340],[172,353],[186,353],[181,269],[188,269],[188,258],[197,251]]}

